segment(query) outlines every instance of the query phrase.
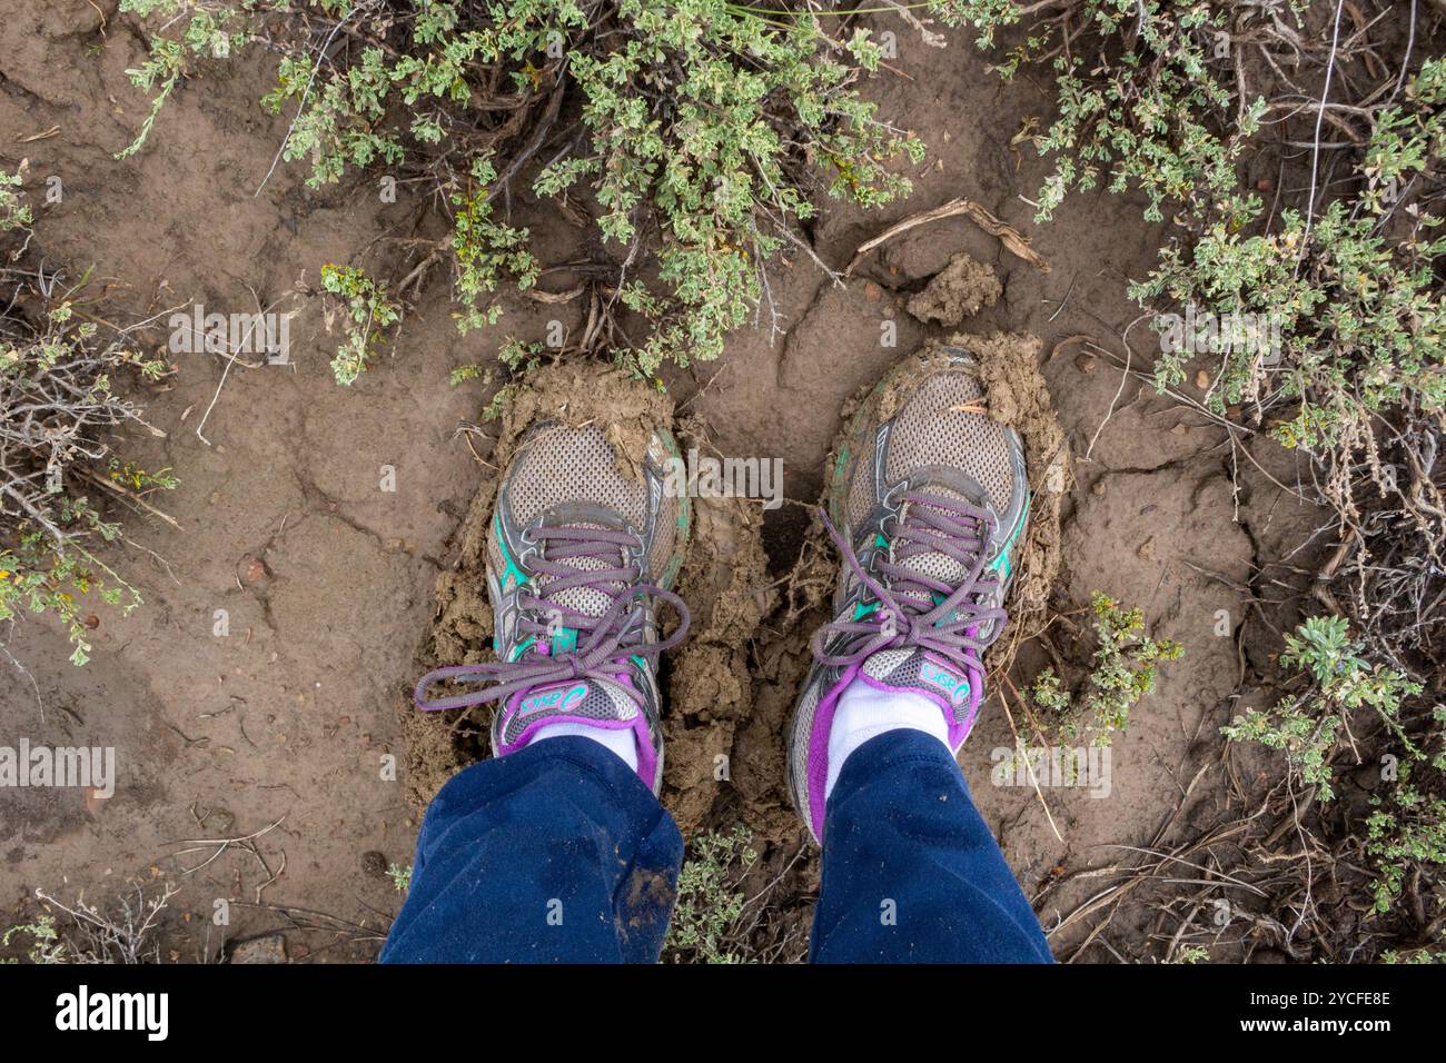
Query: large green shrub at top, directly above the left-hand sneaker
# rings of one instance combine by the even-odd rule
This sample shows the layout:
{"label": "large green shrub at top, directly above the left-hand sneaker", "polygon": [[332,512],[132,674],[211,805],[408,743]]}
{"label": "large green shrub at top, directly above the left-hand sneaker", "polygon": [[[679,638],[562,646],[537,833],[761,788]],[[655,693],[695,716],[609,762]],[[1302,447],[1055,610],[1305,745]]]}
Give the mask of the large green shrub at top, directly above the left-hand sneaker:
{"label": "large green shrub at top, directly above the left-hand sneaker", "polygon": [[[124,0],[123,7],[184,27],[179,40],[158,35],[150,61],[132,72],[156,93],[156,108],[188,62],[217,54],[217,40],[228,42],[228,52],[276,23],[269,36],[282,61],[263,104],[278,113],[295,107],[282,155],[308,159],[314,187],[369,166],[435,182],[454,208],[453,233],[409,276],[419,282],[431,265],[450,262],[463,331],[496,323],[493,296],[503,281],[526,291],[539,275],[528,230],[499,220],[495,201],[549,145],[532,191],[596,204],[597,233],[616,252],[586,278],[602,317],[583,343],[642,375],[669,360],[717,357],[723,334],[768,302],[769,260],[784,246],[807,247],[797,229],[814,215],[816,194],[889,202],[910,189],[898,166],[924,150],[853,88],[857,72],[879,62],[868,32],[834,36],[804,7],[727,0]],[[925,7],[988,39],[1012,4]],[[910,7],[899,10],[914,19]],[[328,40],[346,29],[351,43],[334,61],[318,64],[302,46],[299,30],[315,30],[317,22],[331,26]],[[576,135],[552,136],[564,95],[577,98],[580,124]],[[502,172],[495,159],[506,161]],[[628,314],[642,320],[645,337],[625,330]],[[354,379],[367,351],[348,340],[338,379]]]}

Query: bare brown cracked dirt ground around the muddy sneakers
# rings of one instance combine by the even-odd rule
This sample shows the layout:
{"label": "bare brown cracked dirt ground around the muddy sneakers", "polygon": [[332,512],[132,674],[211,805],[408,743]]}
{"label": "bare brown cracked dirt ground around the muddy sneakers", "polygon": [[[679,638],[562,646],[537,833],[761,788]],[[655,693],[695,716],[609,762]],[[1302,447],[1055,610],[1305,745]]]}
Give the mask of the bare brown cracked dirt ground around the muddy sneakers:
{"label": "bare brown cracked dirt ground around the muddy sneakers", "polygon": [[[288,120],[256,106],[275,62],[260,54],[202,64],[149,145],[117,162],[147,107],[123,74],[145,54],[130,16],[114,0],[0,0],[0,163],[29,158],[38,243],[67,278],[94,266],[104,301],[90,312],[134,320],[195,302],[296,311],[292,364],[227,372],[221,356],[182,354],[145,395],[147,419],[168,435],[137,437],[132,453],[181,480],[161,499],[179,531],[127,518],[130,538],[150,551],[126,557],[145,607],[103,618],[85,668],[68,664],[64,633],[43,622],[13,633],[10,649],[35,684],[0,668],[0,740],[114,746],[120,782],[110,800],[0,793],[0,927],[33,913],[36,888],[98,902],[133,879],[165,881],[179,887],[171,957],[215,959],[286,930],[294,960],[367,959],[401,902],[383,871],[411,862],[418,798],[477,751],[473,723],[399,712],[418,667],[480,652],[490,633],[464,576],[489,463],[505,445],[495,422],[458,434],[480,422],[489,396],[477,383],[450,386],[448,372],[489,362],[503,334],[541,338],[549,318],[576,328],[583,309],[508,296],[496,330],[460,338],[438,279],[389,357],[338,388],[318,270],[363,259],[386,276],[398,260],[389,240],[437,231],[429,201],[402,187],[383,202],[364,182],[311,191],[301,165],[276,165],[268,178]],[[963,35],[937,49],[899,33],[899,48],[898,71],[873,77],[866,93],[930,145],[915,194],[882,213],[826,204],[816,253],[842,268],[892,221],[967,197],[1027,234],[1048,270],[964,217],[889,240],[839,286],[792,257],[771,270],[781,337],[739,330],[723,360],[667,375],[691,440],[784,458],[781,509],[700,503],[709,550],[684,574],[696,626],[665,677],[664,794],[685,832],[748,823],[765,849],[759,888],[787,869],[758,931],[787,942],[782,956],[797,955],[817,888],[782,795],[781,735],[821,618],[817,593],[800,584],[821,573],[821,586],[830,571],[813,506],[840,412],[862,388],[931,340],[1032,337],[1008,343],[1038,366],[1073,469],[1050,502],[1063,570],[1038,593],[1067,613],[1106,592],[1142,607],[1155,636],[1186,646],[1116,739],[1108,798],[991,785],[992,751],[1014,745],[999,703],[1008,684],[993,680],[960,762],[1047,930],[1093,891],[1073,875],[1118,862],[1121,846],[1148,845],[1167,821],[1218,811],[1216,729],[1259,697],[1272,631],[1294,620],[1270,605],[1278,590],[1261,593],[1264,574],[1288,583],[1287,570],[1268,565],[1314,518],[1281,486],[1296,476],[1288,456],[1259,440],[1232,444],[1205,415],[1086,353],[1080,337],[1148,367],[1155,338],[1125,288],[1152,263],[1161,230],[1139,220],[1139,202],[1105,194],[1032,223],[1027,198],[1045,171],[1011,137],[1025,116],[1047,113],[1045,93],[1028,80],[1001,84]],[[43,201],[51,176],[62,182],[58,202]],[[574,253],[581,230],[523,184],[510,200],[545,263]],[[944,296],[954,305],[941,307]],[[996,383],[1002,396],[1009,380]],[[389,470],[395,490],[385,489]],[[1048,495],[1044,474],[1031,470]],[[228,635],[215,633],[217,610]],[[1024,642],[1009,678],[1022,688],[1047,664]],[[730,762],[724,781],[714,778],[719,754]],[[228,926],[213,920],[218,898],[230,901]],[[1051,939],[1058,955],[1074,955],[1092,927],[1063,926]],[[1138,956],[1147,943],[1147,917],[1126,915],[1079,957]]]}

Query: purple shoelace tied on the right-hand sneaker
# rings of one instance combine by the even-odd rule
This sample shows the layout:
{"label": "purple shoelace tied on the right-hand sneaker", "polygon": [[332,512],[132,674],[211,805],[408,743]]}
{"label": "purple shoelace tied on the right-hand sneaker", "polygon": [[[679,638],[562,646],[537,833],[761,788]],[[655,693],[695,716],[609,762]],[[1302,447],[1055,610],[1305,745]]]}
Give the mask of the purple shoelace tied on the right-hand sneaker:
{"label": "purple shoelace tied on the right-hand sneaker", "polygon": [[[1005,610],[975,602],[975,594],[992,589],[996,573],[985,573],[985,552],[993,534],[995,516],[988,509],[963,499],[925,492],[905,492],[905,519],[894,534],[894,560],[879,555],[875,579],[863,565],[827,512],[824,526],[844,563],[863,581],[879,607],[866,616],[826,623],[813,638],[813,654],[820,664],[847,668],[881,649],[931,649],[960,665],[983,670],[980,655],[993,642],[979,638],[979,629],[995,622],[993,633],[1004,628]],[[963,580],[957,586],[941,583],[910,561],[921,554],[943,554],[957,561]],[[936,596],[943,596],[936,603]],[[847,636],[843,652],[830,655],[824,645],[836,635]]]}

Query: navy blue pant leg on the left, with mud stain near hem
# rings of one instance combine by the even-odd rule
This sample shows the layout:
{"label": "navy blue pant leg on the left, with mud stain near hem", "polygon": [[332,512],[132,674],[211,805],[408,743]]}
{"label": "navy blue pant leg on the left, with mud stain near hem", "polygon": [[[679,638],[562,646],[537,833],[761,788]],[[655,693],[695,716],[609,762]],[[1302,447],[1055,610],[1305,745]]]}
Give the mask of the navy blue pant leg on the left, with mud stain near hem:
{"label": "navy blue pant leg on the left, with mud stain near hem", "polygon": [[422,820],[383,963],[656,962],[683,836],[586,738],[474,764]]}

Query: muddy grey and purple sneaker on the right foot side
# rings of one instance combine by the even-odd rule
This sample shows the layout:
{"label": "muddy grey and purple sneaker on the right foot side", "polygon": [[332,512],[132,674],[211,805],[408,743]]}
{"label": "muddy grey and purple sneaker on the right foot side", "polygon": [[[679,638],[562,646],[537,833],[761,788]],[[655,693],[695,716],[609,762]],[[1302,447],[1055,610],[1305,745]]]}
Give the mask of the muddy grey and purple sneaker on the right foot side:
{"label": "muddy grey and purple sneaker on the right foot side", "polygon": [[869,393],[839,444],[826,524],[844,564],[788,752],[788,790],[820,842],[842,768],[829,762],[830,733],[850,684],[860,696],[917,696],[892,700],[920,707],[921,729],[954,754],[973,726],[1030,498],[1019,438],[983,398],[967,351],[915,354]]}

